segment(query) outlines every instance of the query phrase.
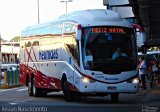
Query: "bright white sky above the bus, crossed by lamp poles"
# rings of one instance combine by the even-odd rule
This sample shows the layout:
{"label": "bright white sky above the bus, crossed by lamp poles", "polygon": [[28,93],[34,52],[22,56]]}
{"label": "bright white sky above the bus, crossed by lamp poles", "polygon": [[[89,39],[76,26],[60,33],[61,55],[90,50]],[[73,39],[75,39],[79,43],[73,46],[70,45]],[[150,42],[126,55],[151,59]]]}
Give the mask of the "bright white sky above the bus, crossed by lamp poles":
{"label": "bright white sky above the bus, crossed by lamp poles", "polygon": [[[103,0],[72,0],[67,12],[85,9],[106,9]],[[40,23],[51,21],[66,13],[66,4],[60,0],[39,0]],[[38,24],[37,0],[0,0],[1,38],[11,40],[21,36],[27,26]]]}

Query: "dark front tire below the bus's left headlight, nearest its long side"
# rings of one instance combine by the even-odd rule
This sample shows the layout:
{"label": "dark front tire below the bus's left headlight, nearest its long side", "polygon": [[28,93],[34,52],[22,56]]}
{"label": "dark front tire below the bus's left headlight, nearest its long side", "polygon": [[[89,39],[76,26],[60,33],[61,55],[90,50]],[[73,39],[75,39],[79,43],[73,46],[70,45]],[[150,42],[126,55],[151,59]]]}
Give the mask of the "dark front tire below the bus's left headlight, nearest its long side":
{"label": "dark front tire below the bus's left headlight, nearest its long side", "polygon": [[64,94],[64,99],[67,102],[73,101],[73,92],[69,89],[67,80],[65,79],[63,82],[63,94]]}

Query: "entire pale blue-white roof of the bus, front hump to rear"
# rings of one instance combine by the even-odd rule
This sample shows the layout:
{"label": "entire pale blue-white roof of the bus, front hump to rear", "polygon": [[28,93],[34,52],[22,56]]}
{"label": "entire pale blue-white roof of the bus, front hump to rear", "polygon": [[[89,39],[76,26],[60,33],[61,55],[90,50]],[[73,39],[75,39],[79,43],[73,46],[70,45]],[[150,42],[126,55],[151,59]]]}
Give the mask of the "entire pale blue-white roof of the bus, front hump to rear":
{"label": "entire pale blue-white roof of the bus, front hump to rear", "polygon": [[127,20],[123,19],[117,12],[106,9],[92,9],[68,13],[60,16],[56,20],[27,27],[22,31],[22,33],[62,21],[74,21],[75,23],[80,24],[82,27],[104,25],[131,27],[131,24]]}

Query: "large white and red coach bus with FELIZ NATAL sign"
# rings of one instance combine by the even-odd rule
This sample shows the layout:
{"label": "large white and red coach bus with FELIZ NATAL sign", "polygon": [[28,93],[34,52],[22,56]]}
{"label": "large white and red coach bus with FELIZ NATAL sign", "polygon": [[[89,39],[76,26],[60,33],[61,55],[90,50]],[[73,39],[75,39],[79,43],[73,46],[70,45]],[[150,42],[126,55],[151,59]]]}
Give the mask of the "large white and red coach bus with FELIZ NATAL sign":
{"label": "large white and red coach bus with FELIZ NATAL sign", "polygon": [[[121,48],[127,56],[112,59]],[[63,90],[77,95],[138,91],[137,46],[129,22],[111,10],[84,10],[27,27],[20,42],[20,75],[30,96]]]}

